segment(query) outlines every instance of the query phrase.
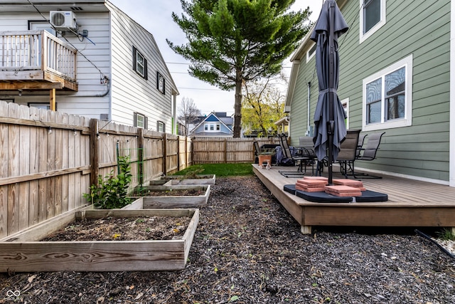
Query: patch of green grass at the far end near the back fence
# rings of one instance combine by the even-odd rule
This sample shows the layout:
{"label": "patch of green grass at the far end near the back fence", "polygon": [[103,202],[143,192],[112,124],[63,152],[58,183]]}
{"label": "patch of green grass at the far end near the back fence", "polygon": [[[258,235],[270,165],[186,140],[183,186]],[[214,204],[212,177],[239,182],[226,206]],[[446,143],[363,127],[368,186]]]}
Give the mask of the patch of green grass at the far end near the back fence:
{"label": "patch of green grass at the far end near the back fence", "polygon": [[[199,169],[203,169],[200,171]],[[253,167],[250,163],[242,164],[195,164],[176,174],[187,174],[197,170],[199,174],[215,174],[216,177],[234,177],[253,175]],[[174,175],[176,175],[174,174]]]}

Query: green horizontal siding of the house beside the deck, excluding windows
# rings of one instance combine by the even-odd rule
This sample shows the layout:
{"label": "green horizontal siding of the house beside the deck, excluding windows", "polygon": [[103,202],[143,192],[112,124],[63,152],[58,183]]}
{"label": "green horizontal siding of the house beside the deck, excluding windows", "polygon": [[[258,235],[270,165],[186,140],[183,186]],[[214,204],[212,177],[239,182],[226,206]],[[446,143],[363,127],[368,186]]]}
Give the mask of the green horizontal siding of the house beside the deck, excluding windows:
{"label": "green horizontal siding of the house beside the deck, excluding windows", "polygon": [[[449,182],[449,43],[450,1],[386,1],[386,23],[359,43],[359,1],[341,7],[350,26],[338,39],[340,81],[338,96],[349,98],[350,129],[361,129],[363,79],[412,55],[412,125],[385,130],[378,158],[356,162],[357,167]],[[301,59],[296,90],[291,100],[291,138],[304,135],[296,119],[306,100],[301,90],[311,80],[311,125],[317,100],[315,58]],[[311,77],[309,77],[311,75]],[[313,88],[316,91],[313,91]],[[304,116],[304,115],[302,115]],[[368,137],[367,137],[368,138]],[[294,140],[292,143],[294,144]]]}

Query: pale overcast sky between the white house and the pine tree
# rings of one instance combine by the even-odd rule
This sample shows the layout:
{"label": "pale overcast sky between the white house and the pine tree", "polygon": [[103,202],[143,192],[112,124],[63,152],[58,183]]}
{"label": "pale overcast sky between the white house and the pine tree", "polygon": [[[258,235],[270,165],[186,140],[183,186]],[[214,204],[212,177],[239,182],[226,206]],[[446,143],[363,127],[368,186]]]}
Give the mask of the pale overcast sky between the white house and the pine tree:
{"label": "pale overcast sky between the white house and the pine tree", "polygon": [[[203,114],[215,111],[228,112],[228,115],[232,115],[234,112],[234,92],[220,90],[215,86],[191,77],[188,74],[188,62],[180,55],[174,53],[166,43],[166,38],[176,45],[186,43],[183,31],[173,22],[171,17],[172,12],[181,16],[180,0],[109,1],[154,36],[180,93],[177,97],[177,106],[181,98],[186,97],[192,98]],[[309,6],[312,11],[310,20],[316,21],[321,11],[322,3],[323,0],[296,0],[292,9],[299,11]],[[284,69],[284,72],[289,75],[291,71],[289,59],[284,61],[284,65],[289,67]],[[286,89],[283,88],[282,91],[283,95],[285,95]]]}

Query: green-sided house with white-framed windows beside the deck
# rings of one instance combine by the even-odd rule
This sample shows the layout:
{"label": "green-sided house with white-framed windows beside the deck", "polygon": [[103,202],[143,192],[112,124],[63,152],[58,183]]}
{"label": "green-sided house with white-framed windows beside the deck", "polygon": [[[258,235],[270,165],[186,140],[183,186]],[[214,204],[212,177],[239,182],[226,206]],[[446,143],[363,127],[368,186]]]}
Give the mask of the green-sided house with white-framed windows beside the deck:
{"label": "green-sided house with white-framed windows beside the deck", "polygon": [[[455,187],[455,1],[337,4],[350,26],[338,38],[347,127],[385,132],[378,158],[355,166]],[[312,135],[318,99],[310,35],[291,58],[285,112],[294,145]]]}

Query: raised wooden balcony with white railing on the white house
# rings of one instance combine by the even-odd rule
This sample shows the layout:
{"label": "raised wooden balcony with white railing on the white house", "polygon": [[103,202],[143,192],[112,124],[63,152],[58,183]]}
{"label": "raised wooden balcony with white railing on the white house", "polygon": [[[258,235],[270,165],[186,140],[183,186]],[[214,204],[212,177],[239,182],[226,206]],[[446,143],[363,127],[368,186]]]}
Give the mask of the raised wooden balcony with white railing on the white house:
{"label": "raised wooden balcony with white railing on the white house", "polygon": [[74,90],[77,51],[47,31],[0,32],[0,90]]}

